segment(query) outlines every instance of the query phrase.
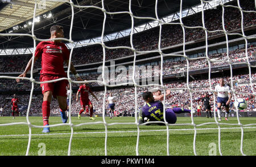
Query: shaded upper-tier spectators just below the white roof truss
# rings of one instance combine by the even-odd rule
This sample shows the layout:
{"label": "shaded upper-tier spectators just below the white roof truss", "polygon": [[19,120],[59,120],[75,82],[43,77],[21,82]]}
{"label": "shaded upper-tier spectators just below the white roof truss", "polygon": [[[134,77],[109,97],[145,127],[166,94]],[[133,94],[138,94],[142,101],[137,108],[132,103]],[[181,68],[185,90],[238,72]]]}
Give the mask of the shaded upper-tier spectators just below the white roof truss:
{"label": "shaded upper-tier spectators just below the white roof truss", "polygon": [[[237,6],[237,2],[234,6]],[[254,6],[251,5],[251,1],[241,1],[240,6],[244,11],[254,11]],[[243,28],[255,26],[255,12],[242,12],[243,13]],[[183,25],[185,26],[185,42],[196,41],[205,38],[205,31],[202,27],[201,13],[184,17]],[[224,34],[222,28],[222,7],[218,6],[215,10],[204,11],[205,27],[208,29],[208,37],[216,36],[217,34]],[[241,11],[234,7],[225,7],[224,12],[224,25],[228,32],[241,29]],[[189,27],[189,28],[186,28]],[[194,28],[192,28],[194,27]],[[217,31],[222,30],[222,31]],[[214,31],[214,32],[212,32]],[[183,43],[183,29],[180,24],[164,24],[161,32],[161,47],[166,48],[176,44]],[[138,51],[148,51],[158,49],[159,40],[159,27],[148,29],[141,33],[135,33],[133,36],[134,48]],[[108,47],[115,46],[128,46],[131,47],[130,37],[123,37],[117,40],[106,42]],[[122,58],[129,55],[133,55],[131,49],[105,49],[106,61],[115,58]],[[31,55],[15,55],[8,56],[6,61],[5,56],[0,57],[0,72],[21,72],[26,65]],[[73,50],[72,62],[74,65],[84,65],[88,63],[101,62],[103,60],[103,49],[101,45],[90,45]],[[20,66],[22,65],[22,66]],[[34,68],[40,68],[40,60],[35,63]]]}

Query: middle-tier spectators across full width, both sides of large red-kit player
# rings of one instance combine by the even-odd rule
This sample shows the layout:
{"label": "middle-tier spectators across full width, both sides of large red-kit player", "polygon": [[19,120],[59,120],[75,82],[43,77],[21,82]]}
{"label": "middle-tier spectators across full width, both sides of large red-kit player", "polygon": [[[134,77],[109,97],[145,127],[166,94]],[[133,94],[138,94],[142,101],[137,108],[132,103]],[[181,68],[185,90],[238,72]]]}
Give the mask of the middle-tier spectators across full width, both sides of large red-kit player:
{"label": "middle-tier spectators across full width, both sides of large red-kit player", "polygon": [[[255,50],[256,50],[256,47],[254,45],[252,45],[250,48],[247,49],[249,62],[255,61],[255,55],[253,55]],[[229,52],[228,56],[226,53],[208,55],[208,57],[210,58],[210,67],[213,68],[213,67],[229,65],[228,57],[231,63],[247,63],[247,57],[246,57],[245,51],[246,51],[245,49],[233,50]],[[189,62],[188,65],[186,60],[163,63],[163,75],[178,74],[181,72],[186,72],[187,66],[189,66],[189,71],[209,68],[208,61],[204,55],[201,58],[189,60],[188,62]],[[160,78],[160,65],[151,66],[151,67],[152,67],[151,68],[152,70],[149,69],[148,66],[144,66],[144,68],[138,67],[138,69],[135,70],[135,71],[139,71],[139,72],[135,72],[135,79],[141,79],[141,78],[146,79],[146,78],[152,78],[152,77]],[[83,78],[86,80],[102,81],[101,74],[86,75],[86,76],[83,76]],[[121,73],[114,72],[114,74],[109,72],[104,75],[104,78],[107,83],[133,82],[133,69],[130,69]],[[75,80],[74,77],[72,77],[71,79]],[[35,80],[39,82],[39,76],[35,76]],[[93,82],[89,84],[95,85],[95,84],[100,84],[100,82]],[[3,89],[28,90],[28,89],[31,89],[31,87],[32,87],[32,84],[30,80],[22,80],[21,83],[17,84],[14,79],[0,79],[0,89],[2,90]],[[34,84],[34,89],[39,90],[40,84]]]}

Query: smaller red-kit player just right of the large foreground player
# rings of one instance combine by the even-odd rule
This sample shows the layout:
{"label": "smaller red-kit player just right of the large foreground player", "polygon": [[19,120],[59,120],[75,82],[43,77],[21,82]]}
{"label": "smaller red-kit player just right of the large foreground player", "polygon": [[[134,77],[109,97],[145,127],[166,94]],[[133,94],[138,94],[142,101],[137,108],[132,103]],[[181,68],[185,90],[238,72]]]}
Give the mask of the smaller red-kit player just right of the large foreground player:
{"label": "smaller red-kit player just right of the large foreground player", "polygon": [[[86,81],[86,80],[85,80]],[[85,106],[89,106],[90,108],[90,117],[89,119],[95,120],[92,116],[93,116],[93,105],[92,102],[89,99],[89,93],[98,101],[97,97],[94,95],[94,93],[90,90],[90,88],[88,87],[88,85],[86,85],[85,83],[82,84],[77,93],[76,93],[76,101],[79,101],[79,93],[80,93],[80,104],[82,109],[80,110],[79,114],[78,114],[78,118],[81,119],[81,114],[82,112],[84,112],[85,110]]]}

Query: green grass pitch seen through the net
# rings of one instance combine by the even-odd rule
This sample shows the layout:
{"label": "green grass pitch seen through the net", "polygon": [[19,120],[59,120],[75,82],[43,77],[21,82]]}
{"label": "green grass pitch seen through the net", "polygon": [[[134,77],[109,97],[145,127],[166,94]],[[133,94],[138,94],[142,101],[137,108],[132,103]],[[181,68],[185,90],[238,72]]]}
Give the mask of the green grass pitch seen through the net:
{"label": "green grass pitch seen through the net", "polygon": [[[135,122],[135,117],[116,117],[109,119],[105,117],[107,123],[127,123]],[[214,118],[193,118],[196,125],[201,123],[214,122]],[[229,121],[222,119],[221,123],[238,123],[237,118],[230,118]],[[42,126],[42,117],[29,117],[32,125]],[[88,117],[72,117],[73,125],[81,123],[103,122],[102,117],[97,117],[96,121],[89,120]],[[242,125],[256,123],[256,118],[240,118]],[[0,125],[3,123],[27,122],[26,117],[0,117]],[[60,117],[50,117],[49,124],[61,123]],[[176,123],[191,123],[191,118],[178,117]],[[241,156],[241,128],[237,125],[220,125],[221,127],[221,153],[222,155]],[[250,128],[248,128],[250,127]],[[230,128],[230,129],[228,129]],[[218,126],[216,124],[202,125],[196,127],[196,154],[208,156],[216,150],[216,155],[220,155],[218,150]],[[14,156],[26,155],[28,145],[28,126],[10,125],[0,126],[0,155]],[[108,156],[135,156],[137,144],[137,126],[134,125],[109,125],[107,126]],[[167,155],[167,127],[166,126],[139,126],[139,147],[141,156]],[[42,128],[31,128],[31,144],[28,155],[39,155],[40,143],[45,145],[47,156],[67,156],[69,139],[71,137],[70,126],[51,127],[49,134],[43,134]],[[194,127],[192,125],[169,126],[169,155],[171,156],[192,156]],[[72,156],[105,156],[105,126],[104,123],[81,125],[73,127],[71,144]],[[245,155],[256,155],[256,126],[246,126],[243,129],[243,153]]]}

